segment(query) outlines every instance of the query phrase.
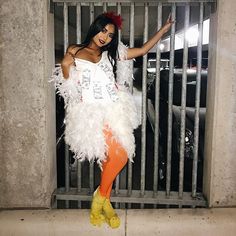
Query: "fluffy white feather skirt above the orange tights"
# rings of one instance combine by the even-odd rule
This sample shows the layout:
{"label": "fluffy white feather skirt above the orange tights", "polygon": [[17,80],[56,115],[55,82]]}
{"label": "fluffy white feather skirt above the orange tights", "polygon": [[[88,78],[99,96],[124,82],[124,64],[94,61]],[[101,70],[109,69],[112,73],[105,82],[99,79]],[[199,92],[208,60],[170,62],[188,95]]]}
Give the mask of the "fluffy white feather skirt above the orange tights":
{"label": "fluffy white feather skirt above the orange tights", "polygon": [[81,161],[106,159],[107,145],[103,130],[107,127],[124,147],[130,160],[135,153],[133,129],[139,125],[137,110],[130,95],[119,92],[119,101],[107,105],[77,103],[67,107],[65,141],[74,157]]}

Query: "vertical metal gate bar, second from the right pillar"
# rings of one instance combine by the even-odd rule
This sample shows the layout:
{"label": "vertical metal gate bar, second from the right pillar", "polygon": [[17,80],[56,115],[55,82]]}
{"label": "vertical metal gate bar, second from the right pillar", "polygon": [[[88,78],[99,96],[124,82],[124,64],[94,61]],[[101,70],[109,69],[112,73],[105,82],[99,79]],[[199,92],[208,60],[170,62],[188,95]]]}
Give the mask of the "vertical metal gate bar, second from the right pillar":
{"label": "vertical metal gate bar, second from the right pillar", "polygon": [[179,197],[183,197],[183,179],[184,179],[184,149],[185,149],[185,120],[186,120],[186,83],[188,67],[188,40],[186,33],[189,27],[190,6],[185,5],[184,19],[184,46],[183,46],[183,74],[182,74],[182,92],[181,92],[181,126],[180,126],[180,157],[179,157]]}

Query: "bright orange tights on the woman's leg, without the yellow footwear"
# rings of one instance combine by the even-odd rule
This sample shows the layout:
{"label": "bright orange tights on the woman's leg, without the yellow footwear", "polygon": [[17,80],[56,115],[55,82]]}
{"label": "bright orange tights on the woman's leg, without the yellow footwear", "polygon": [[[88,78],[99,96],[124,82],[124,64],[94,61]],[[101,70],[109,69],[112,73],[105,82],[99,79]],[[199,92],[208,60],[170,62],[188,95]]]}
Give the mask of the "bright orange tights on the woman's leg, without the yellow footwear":
{"label": "bright orange tights on the woman's leg, without the yellow footwear", "polygon": [[105,129],[106,144],[108,146],[107,160],[103,162],[100,182],[100,194],[110,198],[112,184],[116,176],[128,161],[125,149],[115,140],[111,130]]}

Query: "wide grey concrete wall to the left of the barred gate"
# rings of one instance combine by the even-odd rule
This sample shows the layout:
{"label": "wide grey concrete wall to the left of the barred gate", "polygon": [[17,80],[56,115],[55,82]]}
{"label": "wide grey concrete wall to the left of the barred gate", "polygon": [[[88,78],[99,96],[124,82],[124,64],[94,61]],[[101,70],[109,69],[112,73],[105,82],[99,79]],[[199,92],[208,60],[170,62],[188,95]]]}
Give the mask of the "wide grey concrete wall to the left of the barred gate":
{"label": "wide grey concrete wall to the left of the barred gate", "polygon": [[0,207],[50,207],[56,188],[53,15],[47,0],[1,1]]}

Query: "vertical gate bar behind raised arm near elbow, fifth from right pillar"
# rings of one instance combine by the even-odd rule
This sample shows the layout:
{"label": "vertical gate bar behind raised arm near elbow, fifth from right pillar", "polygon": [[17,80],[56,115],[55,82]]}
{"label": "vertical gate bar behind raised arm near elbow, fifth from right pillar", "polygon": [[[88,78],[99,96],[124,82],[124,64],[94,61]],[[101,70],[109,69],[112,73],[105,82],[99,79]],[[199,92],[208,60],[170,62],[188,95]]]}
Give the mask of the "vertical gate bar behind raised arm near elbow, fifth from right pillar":
{"label": "vertical gate bar behind raised arm near elbow, fifth from right pillar", "polygon": [[[144,35],[143,42],[148,39],[148,3],[144,5]],[[141,196],[145,194],[145,162],[146,162],[146,113],[147,113],[147,55],[143,56],[143,82],[142,82],[142,138],[141,138]],[[143,208],[143,204],[141,204]]]}

